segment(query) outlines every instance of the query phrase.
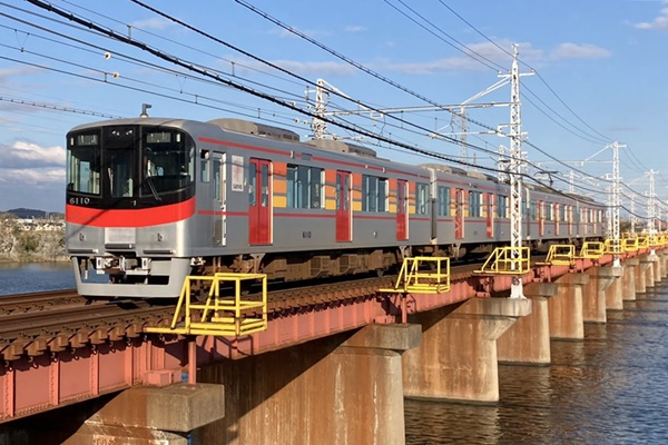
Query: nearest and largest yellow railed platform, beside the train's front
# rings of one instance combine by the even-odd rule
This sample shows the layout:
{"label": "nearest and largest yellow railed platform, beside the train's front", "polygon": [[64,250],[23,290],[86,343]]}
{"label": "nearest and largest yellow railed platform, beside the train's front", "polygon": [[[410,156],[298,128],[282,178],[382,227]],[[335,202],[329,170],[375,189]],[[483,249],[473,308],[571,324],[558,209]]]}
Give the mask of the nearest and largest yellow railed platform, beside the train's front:
{"label": "nearest and largest yellow railed platform, beside the train's front", "polygon": [[[210,281],[203,304],[190,301],[193,283]],[[242,281],[262,281],[262,296],[242,299]],[[220,295],[222,284],[234,284],[234,295]],[[225,290],[225,289],[223,289]],[[254,309],[254,310],[253,310]],[[267,328],[267,276],[216,274],[187,276],[169,327],[146,327],[147,333],[238,337]]]}

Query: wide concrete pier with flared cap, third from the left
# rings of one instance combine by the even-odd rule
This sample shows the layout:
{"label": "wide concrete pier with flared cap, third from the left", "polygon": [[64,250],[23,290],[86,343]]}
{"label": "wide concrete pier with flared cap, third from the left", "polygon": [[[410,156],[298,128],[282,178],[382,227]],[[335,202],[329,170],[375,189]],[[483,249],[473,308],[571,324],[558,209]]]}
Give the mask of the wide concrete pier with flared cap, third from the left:
{"label": "wide concrete pier with flared cap, third from the left", "polygon": [[406,397],[498,402],[497,339],[531,299],[472,298],[409,317],[422,325],[422,344],[403,359]]}

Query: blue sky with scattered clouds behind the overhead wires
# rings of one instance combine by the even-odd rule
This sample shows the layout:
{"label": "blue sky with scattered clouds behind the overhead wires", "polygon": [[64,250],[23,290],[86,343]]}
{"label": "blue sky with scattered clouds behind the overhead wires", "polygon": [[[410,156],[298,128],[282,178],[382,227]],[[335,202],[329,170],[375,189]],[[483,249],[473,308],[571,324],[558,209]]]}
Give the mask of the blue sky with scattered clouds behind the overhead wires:
{"label": "blue sky with scattered clouds behind the overhead wires", "polygon": [[[522,129],[529,141],[523,149],[538,165],[529,172],[559,171],[551,174],[553,184],[567,190],[574,169],[578,192],[602,191],[608,184],[601,178],[612,171],[606,146],[619,141],[626,145],[620,149],[623,182],[639,194],[636,208],[646,207],[640,196],[649,189],[649,169],[658,171],[656,194],[668,200],[668,1],[144,2],[219,41],[129,0],[51,4],[304,109],[310,109],[306,90],[313,90],[305,80],[317,79],[376,109],[458,105],[498,82],[518,44],[521,71],[536,71],[522,77]],[[138,116],[141,103],[150,103],[149,115],[156,117],[236,117],[288,128],[302,139],[311,134],[305,115],[82,29],[28,1],[0,2],[0,210],[62,211],[66,132],[79,123]],[[313,91],[308,98],[313,105]],[[331,110],[360,109],[342,97],[330,99]],[[510,87],[502,86],[473,103],[509,99]],[[495,168],[493,154],[510,142],[481,132],[508,123],[508,107],[471,108],[466,116],[466,141],[473,146],[466,159],[459,158],[459,146],[430,137],[461,137],[459,121],[443,110],[336,119],[385,140]],[[337,137],[358,137],[328,129]],[[360,144],[397,161],[435,161],[369,137]]]}

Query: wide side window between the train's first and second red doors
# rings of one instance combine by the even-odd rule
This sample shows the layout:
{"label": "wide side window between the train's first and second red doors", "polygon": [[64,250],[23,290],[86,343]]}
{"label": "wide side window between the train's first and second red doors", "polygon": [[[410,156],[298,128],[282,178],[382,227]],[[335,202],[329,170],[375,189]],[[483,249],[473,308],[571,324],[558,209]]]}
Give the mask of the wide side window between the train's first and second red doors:
{"label": "wide side window between the train's first and second red doors", "polygon": [[317,167],[287,166],[287,207],[322,208],[324,170]]}

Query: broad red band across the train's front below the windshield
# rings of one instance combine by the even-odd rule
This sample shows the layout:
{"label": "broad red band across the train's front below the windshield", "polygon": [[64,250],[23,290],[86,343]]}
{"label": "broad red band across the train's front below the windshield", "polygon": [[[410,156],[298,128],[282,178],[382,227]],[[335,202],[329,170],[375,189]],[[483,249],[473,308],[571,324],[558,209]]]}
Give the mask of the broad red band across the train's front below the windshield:
{"label": "broad red band across the train's front below the windshield", "polygon": [[92,227],[148,227],[184,220],[195,215],[195,198],[184,202],[145,209],[94,209],[65,206],[65,219]]}

